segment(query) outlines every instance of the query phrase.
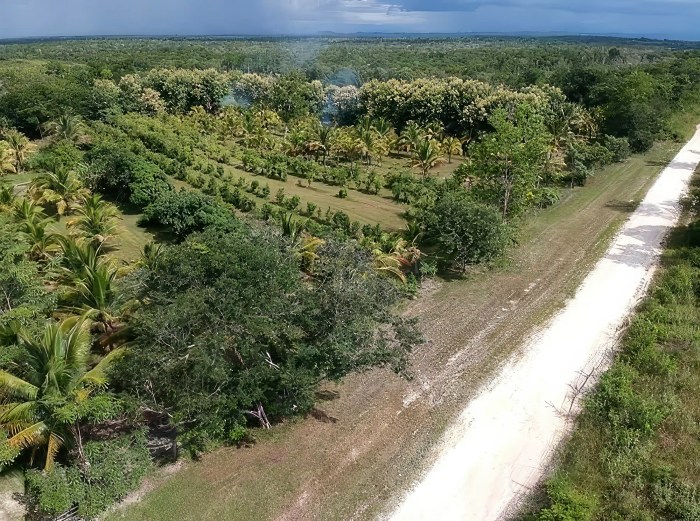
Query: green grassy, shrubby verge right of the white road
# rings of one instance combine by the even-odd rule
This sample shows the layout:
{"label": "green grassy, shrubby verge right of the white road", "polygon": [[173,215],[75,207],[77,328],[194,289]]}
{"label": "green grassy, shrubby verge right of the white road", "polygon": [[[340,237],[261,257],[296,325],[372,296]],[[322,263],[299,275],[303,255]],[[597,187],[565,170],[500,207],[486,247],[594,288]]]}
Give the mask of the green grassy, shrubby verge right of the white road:
{"label": "green grassy, shrubby verge right of the white road", "polygon": [[649,297],[535,499],[544,508],[525,519],[700,519],[698,181]]}

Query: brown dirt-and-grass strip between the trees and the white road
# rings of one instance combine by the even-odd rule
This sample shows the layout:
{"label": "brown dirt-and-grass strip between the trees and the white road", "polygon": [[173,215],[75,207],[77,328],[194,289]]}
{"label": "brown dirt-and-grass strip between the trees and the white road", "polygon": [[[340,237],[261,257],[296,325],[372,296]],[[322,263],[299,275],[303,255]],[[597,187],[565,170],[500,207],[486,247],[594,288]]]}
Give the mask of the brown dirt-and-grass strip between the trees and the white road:
{"label": "brown dirt-and-grass strip between the trees and the white road", "polygon": [[[407,310],[427,343],[414,379],[372,371],[324,389],[317,414],[222,449],[110,519],[369,520],[390,513],[439,457],[446,429],[522,339],[560,309],[605,252],[675,144],[600,172],[533,218],[510,267],[443,283]],[[433,517],[432,519],[439,519]]]}

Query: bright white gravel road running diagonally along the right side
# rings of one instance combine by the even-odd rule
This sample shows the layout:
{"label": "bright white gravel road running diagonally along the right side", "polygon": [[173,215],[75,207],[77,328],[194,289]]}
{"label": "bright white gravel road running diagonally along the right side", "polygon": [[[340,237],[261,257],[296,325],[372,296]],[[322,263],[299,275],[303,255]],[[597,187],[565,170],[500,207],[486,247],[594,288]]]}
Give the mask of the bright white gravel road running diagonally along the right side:
{"label": "bright white gravel road running diagonally along the right side", "polygon": [[700,161],[700,130],[658,178],[575,297],[450,428],[440,456],[392,521],[499,519],[542,476],[572,400],[609,359],[645,293]]}

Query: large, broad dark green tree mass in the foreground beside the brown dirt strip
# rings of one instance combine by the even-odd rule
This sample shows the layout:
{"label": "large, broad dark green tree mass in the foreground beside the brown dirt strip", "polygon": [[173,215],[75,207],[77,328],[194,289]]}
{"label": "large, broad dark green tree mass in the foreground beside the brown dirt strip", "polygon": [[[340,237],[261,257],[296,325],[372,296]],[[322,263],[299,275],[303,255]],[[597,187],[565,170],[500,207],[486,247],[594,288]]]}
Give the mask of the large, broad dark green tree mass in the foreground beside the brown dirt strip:
{"label": "large, broad dark green tree mass in the foreground beside the brown dirt strip", "polygon": [[415,341],[391,312],[397,289],[350,244],[319,248],[304,282],[287,239],[231,223],[190,235],[152,266],[120,381],[167,410],[185,440],[236,439],[251,421],[307,411],[324,379],[403,370]]}

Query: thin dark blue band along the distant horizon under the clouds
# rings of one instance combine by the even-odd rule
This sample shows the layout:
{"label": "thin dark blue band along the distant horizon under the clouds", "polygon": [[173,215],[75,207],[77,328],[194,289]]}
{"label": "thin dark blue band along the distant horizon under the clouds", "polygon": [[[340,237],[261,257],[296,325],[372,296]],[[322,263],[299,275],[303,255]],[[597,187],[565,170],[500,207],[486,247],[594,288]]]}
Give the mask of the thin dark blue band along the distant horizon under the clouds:
{"label": "thin dark blue band along the distant horizon under the clouds", "polygon": [[313,33],[231,33],[231,34],[198,34],[198,33],[163,33],[163,34],[85,34],[85,35],[54,35],[54,36],[17,36],[11,38],[0,38],[0,43],[41,41],[41,40],[90,40],[90,39],[130,39],[130,38],[151,38],[151,39],[274,39],[274,38],[323,38],[329,36],[336,37],[443,37],[455,38],[464,36],[484,36],[484,37],[530,37],[530,38],[552,38],[552,37],[593,37],[610,38],[617,40],[650,40],[658,42],[700,42],[700,36],[695,38],[669,37],[654,34],[638,33],[582,33],[570,31],[483,31],[483,32],[441,32],[441,31],[316,31]]}

